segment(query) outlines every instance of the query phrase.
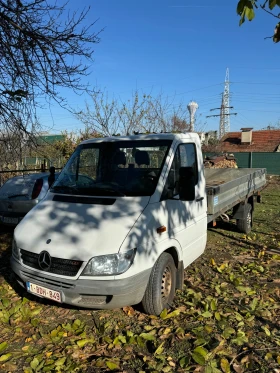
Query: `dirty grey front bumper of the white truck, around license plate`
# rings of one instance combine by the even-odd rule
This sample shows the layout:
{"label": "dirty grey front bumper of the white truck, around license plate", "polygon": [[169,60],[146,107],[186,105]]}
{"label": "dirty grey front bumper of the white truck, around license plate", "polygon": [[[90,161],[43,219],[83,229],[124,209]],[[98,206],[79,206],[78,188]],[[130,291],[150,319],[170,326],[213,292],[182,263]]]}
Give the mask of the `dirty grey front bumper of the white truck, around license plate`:
{"label": "dirty grey front bumper of the white truck, around license plate", "polygon": [[23,267],[13,257],[11,267],[25,289],[26,282],[32,282],[59,291],[63,303],[95,309],[120,308],[141,302],[151,273],[151,269],[147,269],[121,280],[70,280]]}

